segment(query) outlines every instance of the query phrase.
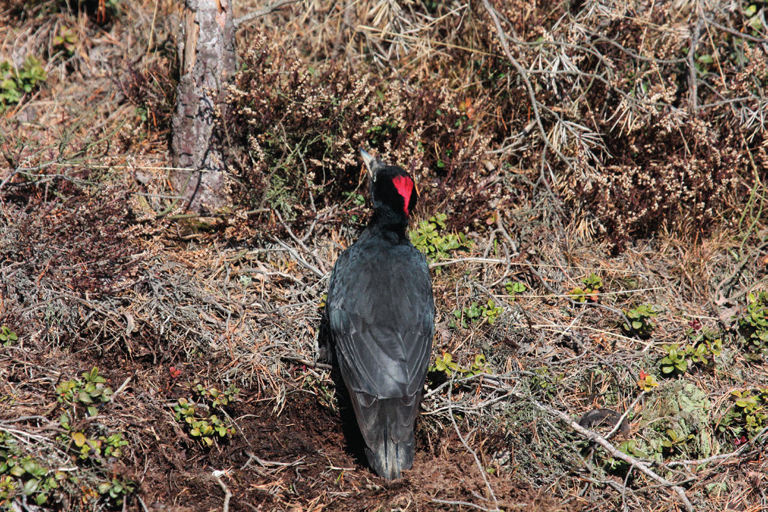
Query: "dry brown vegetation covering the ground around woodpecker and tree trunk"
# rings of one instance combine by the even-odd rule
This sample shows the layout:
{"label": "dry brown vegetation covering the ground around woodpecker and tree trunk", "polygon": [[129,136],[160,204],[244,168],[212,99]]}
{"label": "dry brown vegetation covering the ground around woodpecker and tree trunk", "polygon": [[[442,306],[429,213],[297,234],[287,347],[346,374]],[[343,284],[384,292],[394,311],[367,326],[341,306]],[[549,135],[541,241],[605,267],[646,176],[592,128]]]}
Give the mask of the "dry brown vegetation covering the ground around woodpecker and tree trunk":
{"label": "dry brown vegetation covering the ground around woodpecker and tree trunk", "polygon": [[[288,3],[238,32],[232,207],[200,218],[176,2],[0,2],[0,509],[765,509],[765,10]],[[445,214],[394,483],[323,359],[361,145],[415,175],[416,234]]]}

